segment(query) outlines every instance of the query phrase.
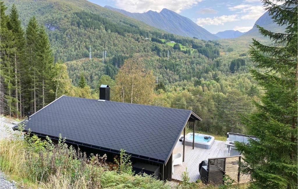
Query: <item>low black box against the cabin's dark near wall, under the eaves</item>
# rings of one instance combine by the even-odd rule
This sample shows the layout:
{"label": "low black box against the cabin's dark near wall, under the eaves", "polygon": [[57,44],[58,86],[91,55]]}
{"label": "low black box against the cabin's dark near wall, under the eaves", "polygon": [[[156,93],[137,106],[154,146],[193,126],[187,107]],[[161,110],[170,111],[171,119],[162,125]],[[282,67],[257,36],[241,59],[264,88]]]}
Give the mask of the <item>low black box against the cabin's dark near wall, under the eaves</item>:
{"label": "low black box against the cabin's dark near wall, under the eaves", "polygon": [[137,162],[132,165],[132,170],[135,171],[135,174],[143,175],[144,173],[146,173],[148,175],[156,177],[156,179],[159,179],[159,166]]}

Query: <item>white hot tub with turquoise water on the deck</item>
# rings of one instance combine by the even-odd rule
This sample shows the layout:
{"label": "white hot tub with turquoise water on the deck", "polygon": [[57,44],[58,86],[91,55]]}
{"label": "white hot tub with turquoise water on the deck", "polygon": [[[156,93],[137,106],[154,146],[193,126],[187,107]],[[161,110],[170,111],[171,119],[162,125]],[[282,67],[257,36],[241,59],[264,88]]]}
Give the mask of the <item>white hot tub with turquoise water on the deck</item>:
{"label": "white hot tub with turquoise water on the deck", "polygon": [[[204,139],[204,136],[208,137],[208,139]],[[184,138],[182,138],[182,144],[184,142]],[[204,135],[200,133],[195,133],[195,147],[210,149],[212,144],[214,143],[214,137],[210,135]],[[185,135],[185,145],[193,146],[193,133],[188,133]]]}

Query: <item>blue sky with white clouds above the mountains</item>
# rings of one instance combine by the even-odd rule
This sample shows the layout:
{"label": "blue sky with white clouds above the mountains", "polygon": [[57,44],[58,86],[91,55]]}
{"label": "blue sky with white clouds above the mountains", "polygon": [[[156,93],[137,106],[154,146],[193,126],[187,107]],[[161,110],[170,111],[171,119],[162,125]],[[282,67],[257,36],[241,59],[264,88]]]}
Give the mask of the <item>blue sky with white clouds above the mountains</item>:
{"label": "blue sky with white clouds above the mountains", "polygon": [[89,0],[100,6],[128,12],[160,12],[167,8],[190,18],[211,33],[225,30],[241,32],[252,29],[255,21],[265,13],[260,0]]}

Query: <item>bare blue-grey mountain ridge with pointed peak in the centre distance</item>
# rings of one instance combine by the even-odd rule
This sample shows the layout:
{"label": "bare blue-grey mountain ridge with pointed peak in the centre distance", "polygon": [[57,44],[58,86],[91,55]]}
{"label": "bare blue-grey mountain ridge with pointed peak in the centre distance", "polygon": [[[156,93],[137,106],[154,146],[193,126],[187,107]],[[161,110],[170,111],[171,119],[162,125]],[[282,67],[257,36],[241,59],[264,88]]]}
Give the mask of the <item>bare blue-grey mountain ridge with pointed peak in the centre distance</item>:
{"label": "bare blue-grey mountain ridge with pointed peak in the centre distance", "polygon": [[150,26],[162,29],[164,31],[186,36],[186,37],[197,37],[202,40],[214,40],[219,39],[218,36],[211,34],[206,29],[198,26],[189,18],[181,16],[174,11],[164,8],[160,12],[149,10],[144,13],[132,13],[122,9],[117,9],[111,6],[105,6],[110,10],[115,10],[128,17],[135,18],[136,20],[147,23]]}

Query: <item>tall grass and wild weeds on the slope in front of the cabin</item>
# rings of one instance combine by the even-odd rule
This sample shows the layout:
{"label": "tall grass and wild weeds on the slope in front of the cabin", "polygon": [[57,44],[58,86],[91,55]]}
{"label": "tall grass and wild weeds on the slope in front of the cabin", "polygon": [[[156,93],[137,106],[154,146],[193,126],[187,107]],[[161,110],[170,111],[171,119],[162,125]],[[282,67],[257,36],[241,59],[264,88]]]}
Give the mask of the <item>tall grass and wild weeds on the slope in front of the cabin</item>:
{"label": "tall grass and wild weeds on the slope in front of the cabin", "polygon": [[[37,136],[15,136],[0,143],[1,171],[46,189],[81,188],[170,188],[151,176],[132,171],[108,171],[106,156],[91,155]],[[123,152],[124,153],[124,152]],[[128,166],[130,167],[130,166]]]}

